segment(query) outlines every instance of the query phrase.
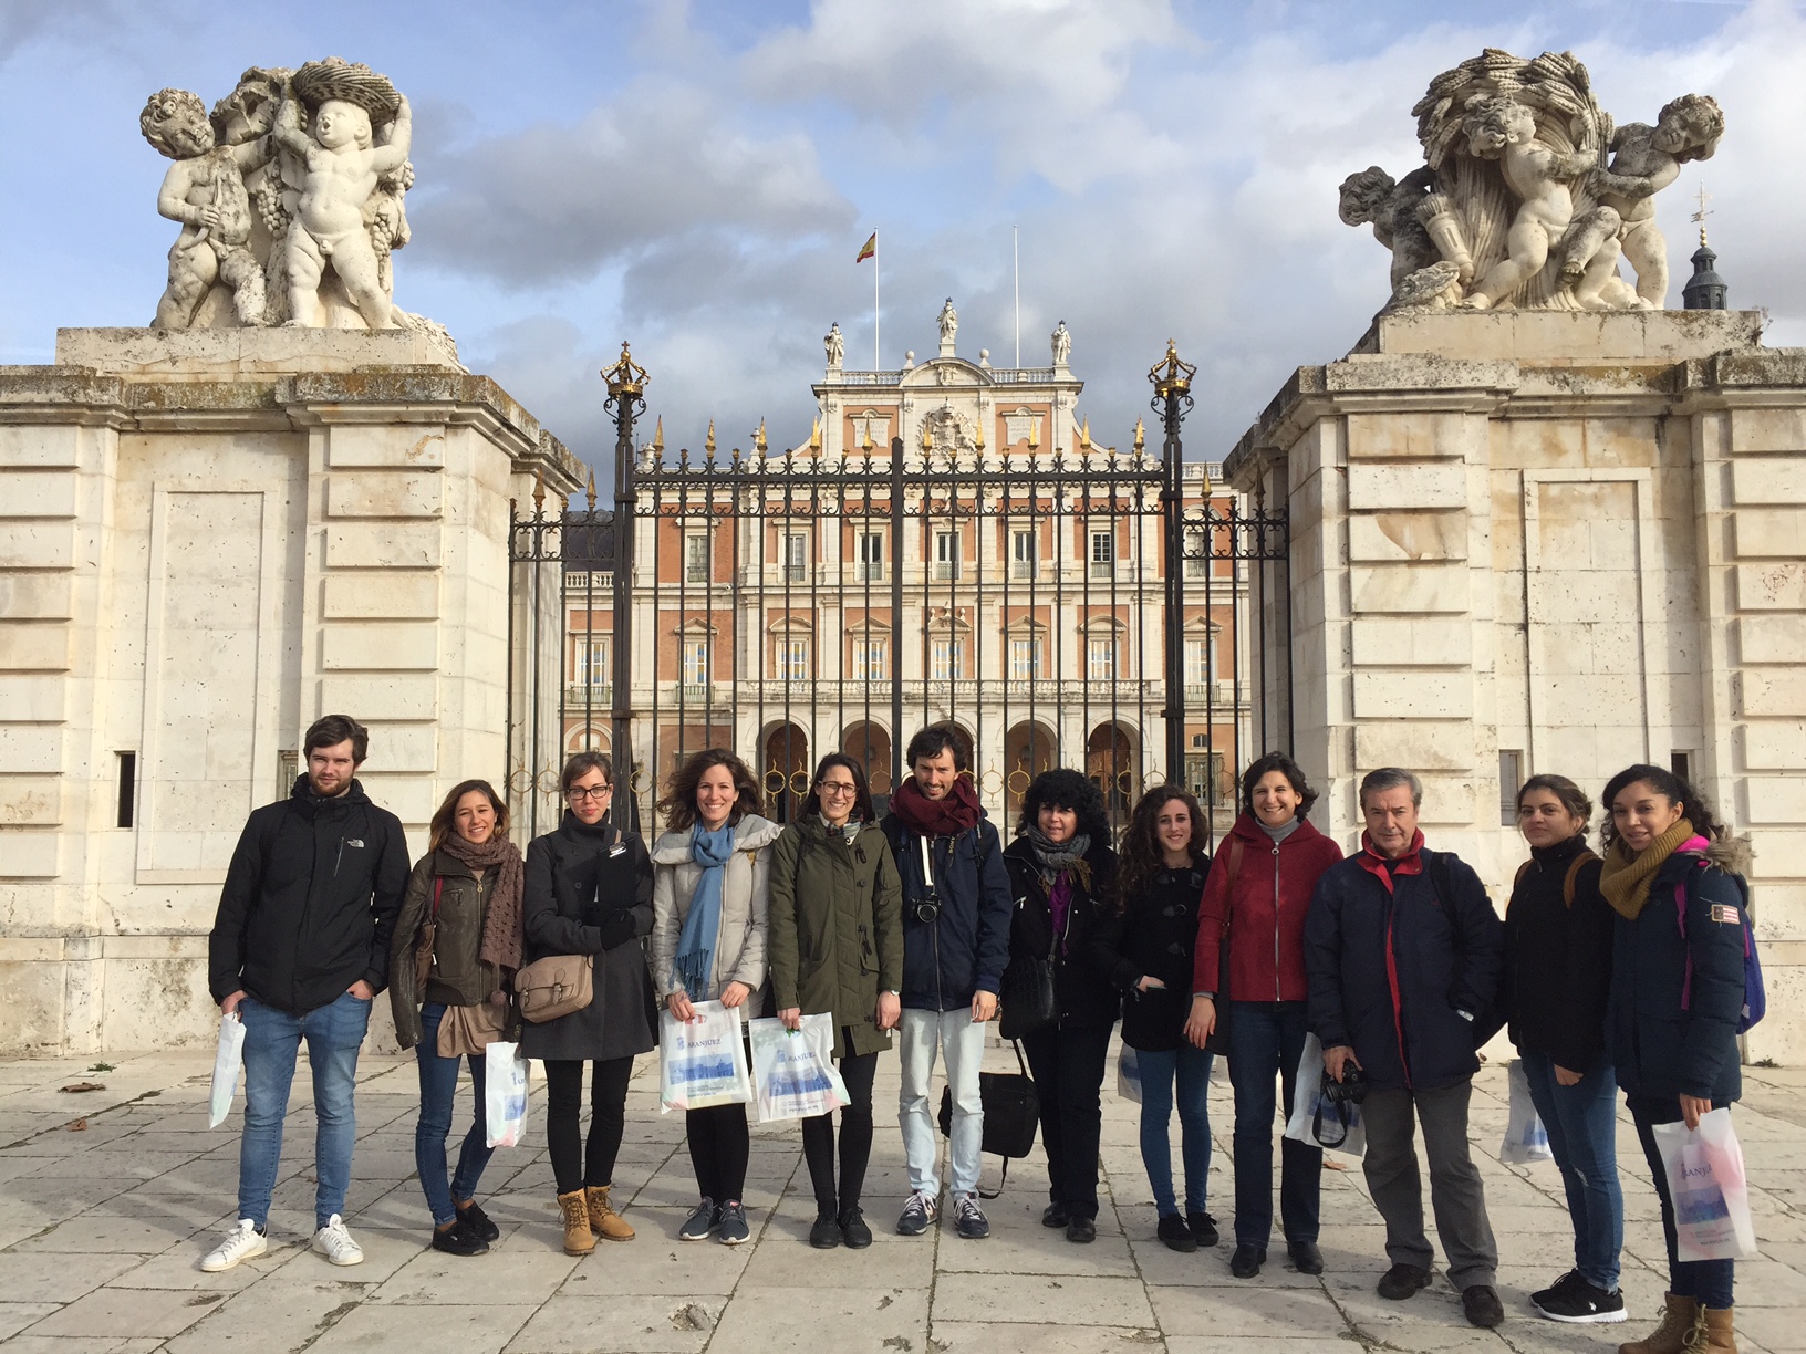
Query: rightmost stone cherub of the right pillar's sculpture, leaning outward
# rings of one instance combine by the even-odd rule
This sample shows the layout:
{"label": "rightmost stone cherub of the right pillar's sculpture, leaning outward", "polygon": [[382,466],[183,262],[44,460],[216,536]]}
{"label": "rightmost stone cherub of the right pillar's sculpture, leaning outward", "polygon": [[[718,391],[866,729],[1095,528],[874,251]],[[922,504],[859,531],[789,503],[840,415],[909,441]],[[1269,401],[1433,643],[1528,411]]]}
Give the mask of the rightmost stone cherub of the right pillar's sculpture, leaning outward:
{"label": "rightmost stone cherub of the right pillar's sculpture, leaning outward", "polygon": [[[1593,170],[1600,211],[1575,231],[1562,262],[1580,305],[1600,311],[1618,300],[1642,311],[1662,307],[1669,294],[1669,244],[1656,226],[1656,193],[1680,177],[1681,164],[1710,159],[1723,135],[1725,114],[1703,94],[1669,101],[1654,126],[1625,123],[1616,130],[1611,164]],[[1611,289],[1620,253],[1636,269],[1636,294],[1622,300]]]}

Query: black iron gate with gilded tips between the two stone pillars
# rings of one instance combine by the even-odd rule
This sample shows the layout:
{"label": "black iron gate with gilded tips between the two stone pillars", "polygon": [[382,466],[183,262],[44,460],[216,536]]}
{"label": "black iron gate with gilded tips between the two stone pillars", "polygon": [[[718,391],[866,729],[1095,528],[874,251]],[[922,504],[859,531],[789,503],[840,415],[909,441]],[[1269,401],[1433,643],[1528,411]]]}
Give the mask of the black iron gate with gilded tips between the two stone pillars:
{"label": "black iron gate with gilded tips between the two stone pillars", "polygon": [[509,700],[509,793],[529,830],[556,821],[565,755],[623,742],[630,794],[616,803],[647,830],[665,778],[710,746],[753,765],[787,818],[824,753],[852,753],[883,796],[914,729],[952,720],[1006,827],[1038,771],[1073,765],[1116,820],[1145,787],[1185,780],[1217,830],[1235,771],[1289,747],[1257,699],[1289,690],[1289,670],[1264,670],[1268,652],[1289,668],[1289,617],[1246,607],[1250,569],[1275,570],[1266,596],[1289,592],[1286,518],[1185,462],[1190,368],[1170,348],[1150,374],[1159,453],[1140,424],[1129,451],[1087,430],[1069,451],[997,453],[982,430],[961,444],[932,417],[910,446],[867,437],[840,457],[820,435],[773,453],[762,426],[749,453],[721,455],[712,426],[699,457],[666,455],[663,424],[636,453],[645,372],[623,348],[605,376],[614,511],[591,484],[583,509],[535,500],[513,520],[511,589],[563,601],[556,733]]}

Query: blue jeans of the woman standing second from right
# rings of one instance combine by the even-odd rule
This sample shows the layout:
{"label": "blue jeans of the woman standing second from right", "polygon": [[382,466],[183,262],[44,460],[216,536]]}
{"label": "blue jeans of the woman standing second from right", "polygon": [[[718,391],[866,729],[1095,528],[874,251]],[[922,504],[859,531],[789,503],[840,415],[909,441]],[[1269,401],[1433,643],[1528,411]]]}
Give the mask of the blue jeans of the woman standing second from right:
{"label": "blue jeans of the woman standing second from right", "polygon": [[1618,1289],[1618,1251],[1624,1247],[1624,1190],[1618,1186],[1618,1080],[1600,1058],[1580,1081],[1555,1080],[1555,1060],[1521,1053],[1530,1078],[1530,1099],[1550,1136],[1550,1152],[1568,1190],[1568,1217],[1575,1228],[1575,1269],[1597,1289]]}

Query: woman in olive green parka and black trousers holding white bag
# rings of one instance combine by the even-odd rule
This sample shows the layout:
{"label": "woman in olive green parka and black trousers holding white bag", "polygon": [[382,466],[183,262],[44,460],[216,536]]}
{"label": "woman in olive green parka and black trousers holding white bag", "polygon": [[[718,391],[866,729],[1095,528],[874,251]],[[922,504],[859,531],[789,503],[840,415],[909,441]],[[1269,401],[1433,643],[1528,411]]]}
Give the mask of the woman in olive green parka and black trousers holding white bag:
{"label": "woman in olive green parka and black trousers holding white bag", "polygon": [[840,1188],[834,1188],[833,1114],[802,1121],[815,1181],[809,1244],[872,1244],[860,1211],[872,1155],[872,1076],[901,1016],[903,879],[878,830],[865,771],[845,753],[815,769],[802,816],[771,849],[771,991],[778,1018],[834,1016],[834,1058],[847,1083],[840,1110]]}

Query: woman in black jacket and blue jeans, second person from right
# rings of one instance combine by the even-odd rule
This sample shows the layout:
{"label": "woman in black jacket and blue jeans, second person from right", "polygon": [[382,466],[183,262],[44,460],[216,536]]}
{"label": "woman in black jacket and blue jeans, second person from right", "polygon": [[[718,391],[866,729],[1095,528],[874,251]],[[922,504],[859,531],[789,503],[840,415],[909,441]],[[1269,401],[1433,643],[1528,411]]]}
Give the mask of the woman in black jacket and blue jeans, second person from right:
{"label": "woman in black jacket and blue jeans, second person from right", "polygon": [[1568,1192],[1575,1264],[1530,1294],[1551,1322],[1622,1322],[1618,1251],[1618,1081],[1606,1058],[1613,912],[1587,850],[1593,802],[1568,776],[1531,776],[1517,791],[1530,859],[1504,910],[1501,1006]]}

